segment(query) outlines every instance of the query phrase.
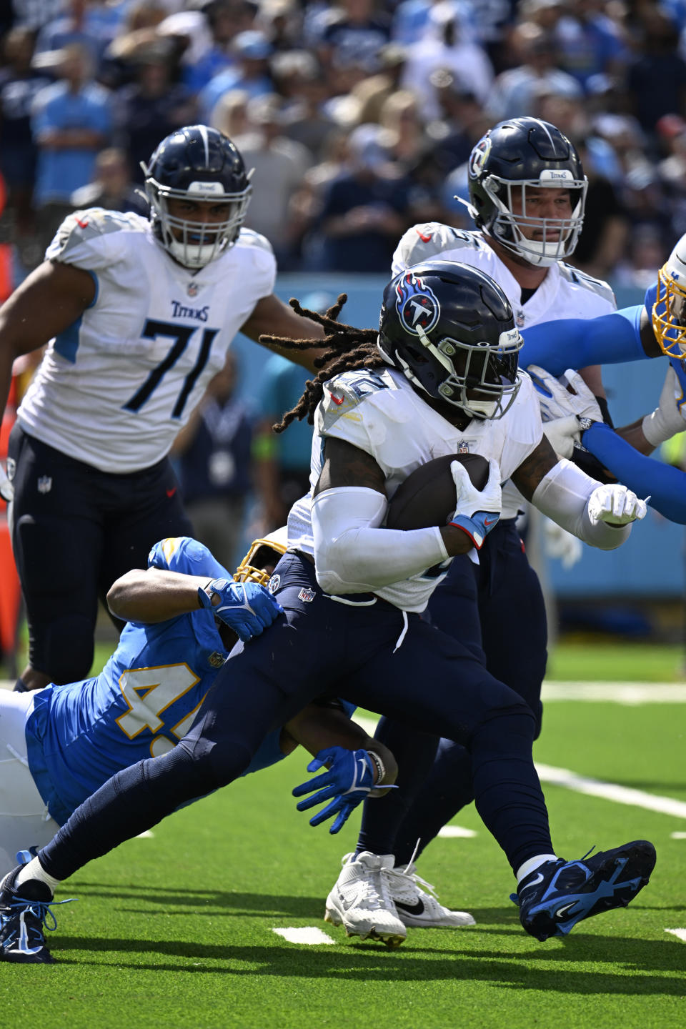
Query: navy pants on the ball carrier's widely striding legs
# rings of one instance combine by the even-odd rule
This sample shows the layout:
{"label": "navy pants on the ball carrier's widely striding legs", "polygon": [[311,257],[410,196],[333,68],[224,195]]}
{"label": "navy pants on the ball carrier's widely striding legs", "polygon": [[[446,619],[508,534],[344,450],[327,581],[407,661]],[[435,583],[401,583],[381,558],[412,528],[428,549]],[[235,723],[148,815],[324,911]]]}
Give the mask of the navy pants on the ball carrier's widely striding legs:
{"label": "navy pants on the ball carrier's widely striding legs", "polygon": [[[460,642],[402,612],[336,602],[314,567],[287,554],[273,584],[286,609],[261,636],[238,644],[186,737],[169,753],[118,772],[77,808],[40,851],[66,879],[245,770],[265,733],[323,690],[423,732],[447,734],[471,753],[476,805],[511,865],[550,853],[547,812],[532,760],[529,706]],[[368,601],[369,596],[351,596]],[[399,645],[398,645],[399,644]]]}

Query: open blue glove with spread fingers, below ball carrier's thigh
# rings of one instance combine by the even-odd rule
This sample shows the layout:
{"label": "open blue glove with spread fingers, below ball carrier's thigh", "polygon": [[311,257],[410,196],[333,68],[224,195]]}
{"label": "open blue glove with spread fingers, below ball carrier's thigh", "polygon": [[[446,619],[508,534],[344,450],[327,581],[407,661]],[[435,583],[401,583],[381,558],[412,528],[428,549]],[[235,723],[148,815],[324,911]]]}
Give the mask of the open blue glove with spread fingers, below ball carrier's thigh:
{"label": "open blue glove with spread fingers, below ball carrier's thigh", "polygon": [[308,765],[308,772],[318,772],[324,766],[329,766],[324,775],[303,782],[293,790],[293,796],[312,793],[314,796],[300,801],[298,811],[306,811],[316,804],[329,801],[330,804],[310,819],[311,825],[320,825],[336,815],[336,820],[329,827],[329,832],[337,832],[345,823],[351,811],[369,794],[374,786],[374,765],[366,750],[346,750],[344,747],[328,747],[320,750]]}

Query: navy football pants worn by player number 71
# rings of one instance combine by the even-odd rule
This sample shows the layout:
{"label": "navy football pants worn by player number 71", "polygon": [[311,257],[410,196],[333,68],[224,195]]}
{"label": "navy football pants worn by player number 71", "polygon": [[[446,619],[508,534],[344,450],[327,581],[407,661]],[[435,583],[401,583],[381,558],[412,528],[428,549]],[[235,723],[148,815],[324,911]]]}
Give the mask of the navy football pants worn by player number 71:
{"label": "navy football pants worn by player number 71", "polygon": [[115,475],[67,457],[14,425],[12,549],[29,623],[29,661],[52,682],[93,665],[98,599],[153,543],[192,536],[170,461]]}

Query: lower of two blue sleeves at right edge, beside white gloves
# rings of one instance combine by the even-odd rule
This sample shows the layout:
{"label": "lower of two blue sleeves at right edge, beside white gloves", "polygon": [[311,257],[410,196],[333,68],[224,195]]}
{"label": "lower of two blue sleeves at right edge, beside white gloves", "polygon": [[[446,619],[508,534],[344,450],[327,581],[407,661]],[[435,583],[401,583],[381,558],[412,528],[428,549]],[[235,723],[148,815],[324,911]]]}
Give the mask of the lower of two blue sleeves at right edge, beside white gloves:
{"label": "lower of two blue sleeves at right edge, beside white gloves", "polygon": [[686,472],[681,468],[639,454],[603,422],[584,432],[581,442],[639,497],[650,496],[651,507],[671,522],[686,525]]}

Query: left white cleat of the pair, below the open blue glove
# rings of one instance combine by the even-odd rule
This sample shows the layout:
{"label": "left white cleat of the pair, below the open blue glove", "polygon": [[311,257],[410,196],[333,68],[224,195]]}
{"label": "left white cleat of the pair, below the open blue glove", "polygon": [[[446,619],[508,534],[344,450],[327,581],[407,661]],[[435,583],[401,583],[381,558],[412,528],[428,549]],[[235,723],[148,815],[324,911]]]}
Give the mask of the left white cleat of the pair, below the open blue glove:
{"label": "left white cleat of the pair, below the open blue glove", "polygon": [[389,893],[393,854],[346,854],[336,884],[326,898],[324,921],[342,925],[348,936],[400,947],[407,930]]}

